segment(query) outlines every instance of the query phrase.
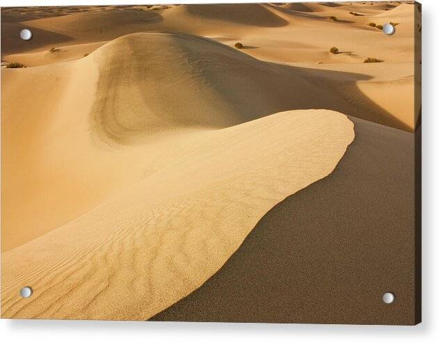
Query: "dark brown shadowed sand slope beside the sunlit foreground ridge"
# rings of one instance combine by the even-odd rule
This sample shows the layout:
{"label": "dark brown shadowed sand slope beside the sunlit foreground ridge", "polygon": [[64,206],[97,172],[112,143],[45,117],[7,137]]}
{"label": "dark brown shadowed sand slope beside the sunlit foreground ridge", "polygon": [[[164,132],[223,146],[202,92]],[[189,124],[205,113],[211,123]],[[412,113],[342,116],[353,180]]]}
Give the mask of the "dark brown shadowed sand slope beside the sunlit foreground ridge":
{"label": "dark brown shadowed sand slope beside the sunlit foreground ridge", "polygon": [[334,172],[273,207],[218,273],[152,320],[416,324],[413,135],[351,120]]}

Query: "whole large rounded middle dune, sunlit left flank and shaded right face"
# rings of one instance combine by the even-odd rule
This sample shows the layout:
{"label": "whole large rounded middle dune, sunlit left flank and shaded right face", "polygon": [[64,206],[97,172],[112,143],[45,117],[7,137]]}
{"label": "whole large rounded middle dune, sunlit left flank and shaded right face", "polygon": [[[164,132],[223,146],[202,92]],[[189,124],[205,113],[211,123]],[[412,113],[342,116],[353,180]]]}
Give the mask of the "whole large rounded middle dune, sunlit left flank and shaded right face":
{"label": "whole large rounded middle dune, sunlit left flank and shaded right face", "polygon": [[[8,239],[2,249],[40,237],[160,170],[186,148],[178,143],[177,149],[175,142],[191,141],[191,132],[198,129],[312,108],[409,127],[408,107],[398,112],[406,115],[404,124],[358,90],[376,95],[378,103],[394,111],[404,102],[387,105],[380,95],[392,85],[383,81],[369,87],[367,80],[359,83],[362,79],[362,74],[266,63],[182,33],[125,35],[77,61],[3,70],[2,165],[8,166],[3,168],[3,180],[8,180],[3,196],[11,200],[3,206],[2,223],[10,230],[3,232]],[[410,87],[401,83],[398,90],[410,93]],[[154,163],[145,161],[143,143],[149,143],[147,154]],[[117,158],[102,153],[107,145],[118,147]],[[63,197],[65,192],[70,197]]]}

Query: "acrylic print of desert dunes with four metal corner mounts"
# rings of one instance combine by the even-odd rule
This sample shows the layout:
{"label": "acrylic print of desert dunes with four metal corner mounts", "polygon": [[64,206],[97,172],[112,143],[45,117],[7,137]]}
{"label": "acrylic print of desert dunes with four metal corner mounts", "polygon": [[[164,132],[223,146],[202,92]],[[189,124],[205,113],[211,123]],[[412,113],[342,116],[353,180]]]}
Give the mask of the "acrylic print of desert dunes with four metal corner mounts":
{"label": "acrylic print of desert dunes with four metal corner mounts", "polygon": [[1,316],[417,324],[420,11],[2,8]]}

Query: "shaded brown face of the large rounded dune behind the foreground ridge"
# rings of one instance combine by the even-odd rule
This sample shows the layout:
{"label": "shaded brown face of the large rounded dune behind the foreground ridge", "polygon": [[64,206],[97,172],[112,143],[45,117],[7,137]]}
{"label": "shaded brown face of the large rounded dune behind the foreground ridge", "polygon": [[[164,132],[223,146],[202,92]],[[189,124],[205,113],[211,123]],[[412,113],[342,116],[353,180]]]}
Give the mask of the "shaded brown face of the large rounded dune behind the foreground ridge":
{"label": "shaded brown face of the large rounded dune behind the foreground ridge", "polygon": [[[99,64],[96,129],[118,143],[181,127],[228,127],[287,109],[333,109],[406,127],[356,91],[356,80],[367,79],[360,74],[265,63],[195,35],[125,35],[93,58]],[[337,93],[331,89],[336,79],[344,88],[351,80],[354,89]]]}

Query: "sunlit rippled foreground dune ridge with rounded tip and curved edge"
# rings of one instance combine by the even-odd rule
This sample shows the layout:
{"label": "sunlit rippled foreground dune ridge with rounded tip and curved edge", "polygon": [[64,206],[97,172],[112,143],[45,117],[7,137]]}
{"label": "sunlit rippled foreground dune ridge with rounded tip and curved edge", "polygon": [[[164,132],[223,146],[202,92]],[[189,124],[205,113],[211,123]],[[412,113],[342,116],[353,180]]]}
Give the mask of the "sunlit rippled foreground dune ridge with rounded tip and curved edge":
{"label": "sunlit rippled foreground dune ridge with rounded tip and curved edge", "polygon": [[205,131],[122,196],[3,253],[2,317],[152,317],[216,273],[269,209],[330,174],[353,137],[328,110]]}

